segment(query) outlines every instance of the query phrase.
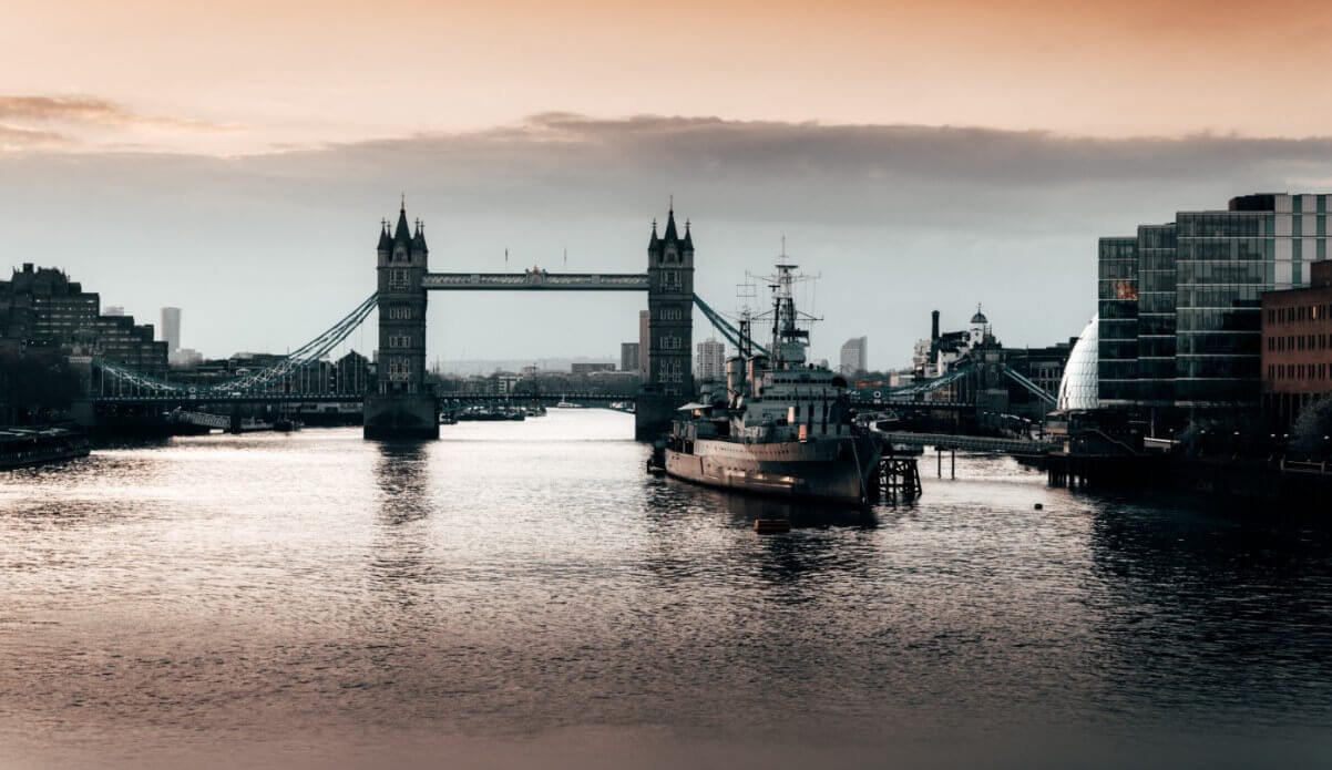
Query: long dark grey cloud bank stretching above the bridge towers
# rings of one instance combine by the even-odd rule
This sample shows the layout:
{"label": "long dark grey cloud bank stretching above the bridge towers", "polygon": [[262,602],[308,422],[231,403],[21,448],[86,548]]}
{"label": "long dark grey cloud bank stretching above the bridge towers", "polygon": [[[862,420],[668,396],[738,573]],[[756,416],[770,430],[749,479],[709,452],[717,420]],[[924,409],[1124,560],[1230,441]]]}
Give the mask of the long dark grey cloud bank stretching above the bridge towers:
{"label": "long dark grey cloud bank stretching above the bridge towers", "polygon": [[[976,127],[825,125],[543,113],[468,133],[261,161],[286,179],[400,180],[462,210],[625,212],[645,196],[749,221],[1031,232],[1231,194],[1327,187],[1332,137],[1096,139]],[[1054,216],[1052,216],[1054,214]],[[1126,217],[1127,218],[1127,217]],[[1126,225],[1136,224],[1135,220]]]}

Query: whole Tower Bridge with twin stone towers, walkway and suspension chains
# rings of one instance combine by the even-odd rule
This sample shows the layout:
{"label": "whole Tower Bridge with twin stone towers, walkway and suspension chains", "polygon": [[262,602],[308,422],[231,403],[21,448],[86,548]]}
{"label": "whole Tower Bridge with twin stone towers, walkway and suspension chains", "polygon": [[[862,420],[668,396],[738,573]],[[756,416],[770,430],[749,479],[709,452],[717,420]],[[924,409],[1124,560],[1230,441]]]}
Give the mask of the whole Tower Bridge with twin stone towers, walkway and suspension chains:
{"label": "whole Tower Bridge with twin stone towers, walkway and suspension chains", "polygon": [[[647,297],[649,340],[645,352],[647,378],[634,397],[635,437],[657,438],[681,404],[693,400],[694,306],[733,346],[741,348],[741,332],[701,297],[694,294],[694,237],[685,222],[675,224],[674,206],[661,234],[653,221],[642,273],[550,273],[539,268],[519,273],[432,272],[430,249],[421,220],[409,224],[406,205],[393,228],[385,220],[376,248],[376,292],[324,333],[292,353],[254,370],[206,384],[189,384],[148,376],[112,361],[93,360],[89,416],[107,408],[190,406],[200,404],[304,404],[364,402],[366,438],[438,438],[440,397],[426,382],[426,297],[429,292],[643,292]],[[342,377],[328,354],[342,344],[372,312],[378,312],[378,372],[373,389],[361,377]],[[766,350],[747,341],[758,353]],[[364,366],[364,358],[361,358]],[[992,369],[992,372],[991,372]],[[852,394],[862,408],[914,406],[931,409],[975,408],[976,401],[926,401],[955,392],[960,384],[975,393],[984,380],[1008,377],[1039,396],[1052,397],[1011,370],[978,366],[959,369],[932,381],[867,394]],[[329,385],[329,372],[337,370]],[[988,373],[987,373],[988,372]],[[984,377],[980,377],[984,374]],[[990,386],[994,384],[991,382]],[[952,386],[950,390],[944,388]],[[448,398],[448,394],[442,394]],[[587,394],[591,398],[591,394]],[[617,396],[615,400],[623,400]],[[958,401],[952,398],[950,401]]]}

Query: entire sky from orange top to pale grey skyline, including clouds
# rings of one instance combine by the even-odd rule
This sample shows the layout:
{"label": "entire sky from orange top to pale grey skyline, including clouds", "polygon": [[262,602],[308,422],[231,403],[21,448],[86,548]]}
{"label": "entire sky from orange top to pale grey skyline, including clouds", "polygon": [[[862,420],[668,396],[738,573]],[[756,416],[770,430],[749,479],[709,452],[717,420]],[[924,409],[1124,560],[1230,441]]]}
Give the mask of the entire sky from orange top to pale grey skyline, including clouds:
{"label": "entire sky from orange top to pale grey skyline, including clouds", "polygon": [[[635,272],[674,194],[698,293],[779,249],[814,353],[904,365],[928,312],[1007,344],[1095,312],[1095,242],[1332,189],[1332,9],[1200,3],[64,0],[0,25],[0,256],[209,356],[373,284],[400,193],[437,270]],[[432,358],[602,356],[642,297],[432,294]],[[705,336],[699,320],[695,337]],[[465,332],[464,332],[465,330]],[[353,338],[358,349],[372,340]]]}

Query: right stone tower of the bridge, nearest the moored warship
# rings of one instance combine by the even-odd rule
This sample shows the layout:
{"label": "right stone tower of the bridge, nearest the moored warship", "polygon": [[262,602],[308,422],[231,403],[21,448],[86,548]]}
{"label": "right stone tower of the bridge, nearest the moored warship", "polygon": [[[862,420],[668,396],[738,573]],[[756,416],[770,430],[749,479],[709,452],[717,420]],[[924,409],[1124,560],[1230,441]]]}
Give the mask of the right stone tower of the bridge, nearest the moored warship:
{"label": "right stone tower of the bridge, nearest the moored warship", "polygon": [[647,241],[647,381],[634,408],[634,434],[651,441],[670,426],[681,404],[694,397],[694,236],[675,228],[675,206],[666,214],[666,232],[657,221]]}

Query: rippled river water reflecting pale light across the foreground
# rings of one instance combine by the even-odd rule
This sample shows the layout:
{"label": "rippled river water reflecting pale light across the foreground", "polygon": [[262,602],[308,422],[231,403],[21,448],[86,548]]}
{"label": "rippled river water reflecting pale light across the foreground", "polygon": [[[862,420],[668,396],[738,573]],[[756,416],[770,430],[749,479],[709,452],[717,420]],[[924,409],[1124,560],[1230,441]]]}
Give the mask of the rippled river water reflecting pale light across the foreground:
{"label": "rippled river water reflecting pale light across the foreground", "polygon": [[0,476],[0,765],[1332,761],[1325,521],[992,457],[790,509],[646,476],[631,436],[551,409]]}

